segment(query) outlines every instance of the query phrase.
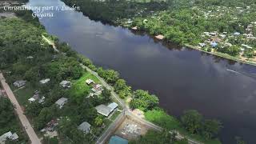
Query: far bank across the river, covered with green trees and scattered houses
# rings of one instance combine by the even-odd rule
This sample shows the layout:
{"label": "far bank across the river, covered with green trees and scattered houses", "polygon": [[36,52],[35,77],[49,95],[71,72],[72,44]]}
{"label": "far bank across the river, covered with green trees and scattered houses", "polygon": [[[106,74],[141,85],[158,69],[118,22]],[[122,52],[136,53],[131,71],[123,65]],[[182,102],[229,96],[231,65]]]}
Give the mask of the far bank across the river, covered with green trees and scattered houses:
{"label": "far bank across the river, covered with green trees and scattered houses", "polygon": [[161,34],[166,42],[176,42],[226,58],[256,62],[254,0],[63,2],[80,6],[84,14],[102,22],[146,31],[154,36]]}

